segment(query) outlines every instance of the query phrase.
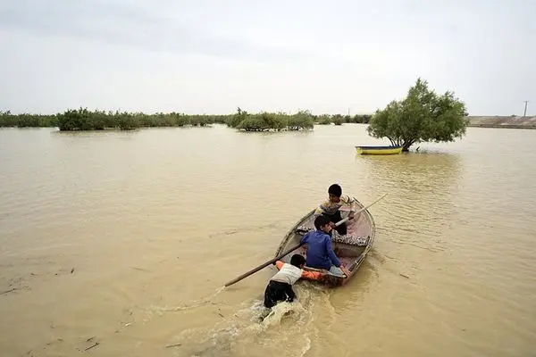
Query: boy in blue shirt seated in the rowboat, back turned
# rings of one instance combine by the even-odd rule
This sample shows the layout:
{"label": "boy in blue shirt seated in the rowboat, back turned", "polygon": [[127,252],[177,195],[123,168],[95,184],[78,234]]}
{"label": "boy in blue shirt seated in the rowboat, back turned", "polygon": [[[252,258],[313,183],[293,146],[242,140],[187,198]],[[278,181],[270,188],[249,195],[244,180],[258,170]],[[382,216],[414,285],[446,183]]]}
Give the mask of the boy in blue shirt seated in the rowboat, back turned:
{"label": "boy in blue shirt seated in the rowboat, back turned", "polygon": [[331,245],[331,221],[320,215],[314,219],[316,230],[308,232],[301,238],[300,243],[307,245],[306,265],[311,268],[325,269],[338,277],[348,277],[349,271],[342,266],[339,258],[333,252]]}

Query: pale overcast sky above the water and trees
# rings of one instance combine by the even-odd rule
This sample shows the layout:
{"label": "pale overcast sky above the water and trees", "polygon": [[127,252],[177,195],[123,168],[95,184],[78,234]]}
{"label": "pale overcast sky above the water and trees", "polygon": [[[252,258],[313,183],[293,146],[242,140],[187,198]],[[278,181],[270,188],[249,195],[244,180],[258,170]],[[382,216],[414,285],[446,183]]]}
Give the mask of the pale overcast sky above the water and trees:
{"label": "pale overcast sky above the water and trees", "polygon": [[0,110],[536,112],[536,1],[0,0]]}

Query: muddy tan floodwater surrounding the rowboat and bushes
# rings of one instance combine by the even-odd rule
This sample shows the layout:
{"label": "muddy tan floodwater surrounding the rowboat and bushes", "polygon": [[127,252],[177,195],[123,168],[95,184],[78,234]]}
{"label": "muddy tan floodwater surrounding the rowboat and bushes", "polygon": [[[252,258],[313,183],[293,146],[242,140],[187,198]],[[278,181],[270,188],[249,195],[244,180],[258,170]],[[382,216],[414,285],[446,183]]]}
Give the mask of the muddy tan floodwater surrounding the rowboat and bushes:
{"label": "muddy tan floodwater surrounding the rowboat and bushes", "polygon": [[[536,355],[536,130],[355,154],[376,143],[364,125],[0,130],[0,354]],[[373,250],[261,322],[273,268],[223,284],[333,182],[388,194]]]}

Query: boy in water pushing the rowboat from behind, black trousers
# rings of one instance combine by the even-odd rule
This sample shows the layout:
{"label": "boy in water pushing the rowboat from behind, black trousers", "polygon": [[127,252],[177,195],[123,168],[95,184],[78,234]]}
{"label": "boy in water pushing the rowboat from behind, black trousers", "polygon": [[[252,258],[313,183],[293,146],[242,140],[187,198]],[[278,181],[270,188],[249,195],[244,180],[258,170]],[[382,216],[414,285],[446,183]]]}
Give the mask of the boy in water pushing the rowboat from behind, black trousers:
{"label": "boy in water pushing the rowboat from behind, black trousers", "polygon": [[303,270],[305,263],[306,258],[300,254],[292,255],[290,264],[281,261],[275,262],[279,271],[270,279],[264,291],[265,307],[270,309],[275,304],[283,301],[292,303],[296,298],[292,286],[299,278],[319,279],[325,275],[317,271]]}

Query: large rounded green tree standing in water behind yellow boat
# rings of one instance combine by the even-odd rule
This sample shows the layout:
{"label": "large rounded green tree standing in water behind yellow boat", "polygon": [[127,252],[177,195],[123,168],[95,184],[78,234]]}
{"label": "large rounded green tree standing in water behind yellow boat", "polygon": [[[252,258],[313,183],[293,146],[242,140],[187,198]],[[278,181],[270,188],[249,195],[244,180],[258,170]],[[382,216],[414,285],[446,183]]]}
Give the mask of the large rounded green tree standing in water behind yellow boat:
{"label": "large rounded green tree standing in water behind yellow boat", "polygon": [[408,151],[420,142],[450,142],[465,135],[465,104],[454,93],[437,95],[426,80],[417,79],[406,98],[392,101],[377,110],[367,132],[372,137],[387,137],[392,145]]}

